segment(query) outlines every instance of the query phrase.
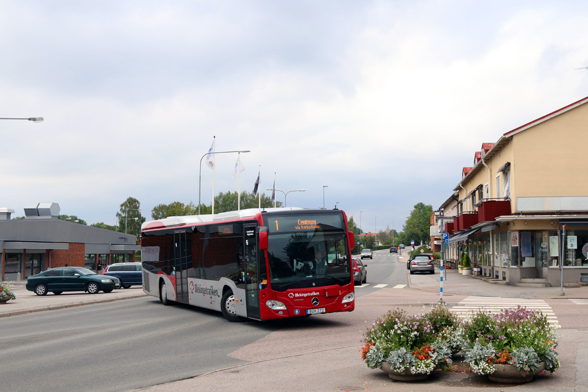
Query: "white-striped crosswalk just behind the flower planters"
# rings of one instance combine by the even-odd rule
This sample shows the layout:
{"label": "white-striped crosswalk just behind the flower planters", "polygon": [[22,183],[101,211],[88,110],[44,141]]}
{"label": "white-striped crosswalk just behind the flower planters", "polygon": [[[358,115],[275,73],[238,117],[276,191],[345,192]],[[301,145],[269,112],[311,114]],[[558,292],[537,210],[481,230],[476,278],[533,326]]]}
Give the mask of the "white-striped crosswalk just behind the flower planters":
{"label": "white-striped crosswalk just behind the flower planters", "polygon": [[546,301],[539,299],[469,296],[449,310],[465,319],[472,314],[472,311],[475,313],[477,310],[486,310],[490,313],[499,313],[501,309],[515,309],[519,305],[530,310],[542,311],[547,316],[547,321],[550,324],[559,327],[557,317],[553,313],[551,306]]}

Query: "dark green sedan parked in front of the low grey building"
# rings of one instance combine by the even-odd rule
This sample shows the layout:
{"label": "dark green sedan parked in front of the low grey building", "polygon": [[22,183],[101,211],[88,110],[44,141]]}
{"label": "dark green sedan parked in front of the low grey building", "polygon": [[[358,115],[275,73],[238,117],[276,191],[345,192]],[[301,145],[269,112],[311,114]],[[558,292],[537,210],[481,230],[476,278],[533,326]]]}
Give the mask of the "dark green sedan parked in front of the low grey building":
{"label": "dark green sedan parked in front of the low grey building", "polygon": [[121,287],[121,280],[113,276],[98,275],[84,267],[57,267],[29,276],[26,290],[44,296],[47,292],[59,295],[63,292],[88,292],[100,290],[110,293]]}

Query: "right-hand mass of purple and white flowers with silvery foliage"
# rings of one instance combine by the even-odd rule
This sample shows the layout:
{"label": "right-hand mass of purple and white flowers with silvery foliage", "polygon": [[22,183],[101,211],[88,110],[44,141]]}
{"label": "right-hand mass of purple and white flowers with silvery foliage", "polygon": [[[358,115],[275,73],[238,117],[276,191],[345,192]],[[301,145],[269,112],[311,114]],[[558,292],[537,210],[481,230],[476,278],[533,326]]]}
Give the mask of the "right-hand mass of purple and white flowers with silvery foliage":
{"label": "right-hand mass of purple and white flowers with silvery foliage", "polygon": [[555,330],[543,313],[520,305],[498,314],[480,310],[463,328],[465,361],[479,374],[492,374],[495,364],[533,372],[543,361],[554,371],[559,367]]}

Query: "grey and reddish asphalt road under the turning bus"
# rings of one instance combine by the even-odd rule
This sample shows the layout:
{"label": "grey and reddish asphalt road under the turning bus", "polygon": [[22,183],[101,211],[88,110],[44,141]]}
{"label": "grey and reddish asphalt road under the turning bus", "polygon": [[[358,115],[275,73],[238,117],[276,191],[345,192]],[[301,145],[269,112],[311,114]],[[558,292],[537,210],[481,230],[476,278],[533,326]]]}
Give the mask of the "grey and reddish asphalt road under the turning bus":
{"label": "grey and reddish asphalt road under the turning bus", "polygon": [[[392,385],[383,372],[366,368],[357,350],[372,320],[397,306],[422,311],[436,303],[439,293],[407,286],[406,258],[385,250],[364,261],[368,283],[356,286],[356,310],[350,313],[228,323],[220,313],[165,307],[143,297],[0,319],[0,353],[9,361],[0,372],[1,390],[414,390],[413,384]],[[434,288],[439,273],[410,279],[414,287]],[[456,277],[448,280],[455,284]],[[496,290],[484,284],[483,289]],[[505,287],[506,292],[515,289]],[[472,300],[467,294],[446,295],[452,307]],[[588,301],[545,301],[562,327],[562,375],[539,378],[516,390],[586,390]],[[467,391],[493,385],[476,377],[440,373],[426,386]]]}

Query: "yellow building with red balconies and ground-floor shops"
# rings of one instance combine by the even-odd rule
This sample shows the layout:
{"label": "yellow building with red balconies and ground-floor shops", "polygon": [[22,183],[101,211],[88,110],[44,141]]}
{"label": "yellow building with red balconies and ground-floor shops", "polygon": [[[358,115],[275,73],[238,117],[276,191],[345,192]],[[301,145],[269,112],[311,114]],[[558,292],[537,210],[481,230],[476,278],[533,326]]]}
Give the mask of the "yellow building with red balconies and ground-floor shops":
{"label": "yellow building with red balconies and ground-floor shops", "polygon": [[483,275],[552,286],[561,283],[563,259],[563,283],[588,281],[585,103],[588,97],[483,143],[439,208],[440,230],[450,233],[446,259],[465,251]]}

